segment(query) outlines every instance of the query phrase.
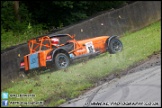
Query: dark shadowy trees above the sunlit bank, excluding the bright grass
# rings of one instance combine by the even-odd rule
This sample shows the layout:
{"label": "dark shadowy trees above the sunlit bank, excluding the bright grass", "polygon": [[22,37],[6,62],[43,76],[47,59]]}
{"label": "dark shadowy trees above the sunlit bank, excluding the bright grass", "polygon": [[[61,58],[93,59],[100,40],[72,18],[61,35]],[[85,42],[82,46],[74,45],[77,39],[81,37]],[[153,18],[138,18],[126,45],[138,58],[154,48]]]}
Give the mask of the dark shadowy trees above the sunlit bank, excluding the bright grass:
{"label": "dark shadowy trees above the sunlit bank, excluding the bright grass", "polygon": [[1,1],[1,28],[21,31],[29,23],[42,24],[44,29],[61,28],[124,3],[126,1]]}

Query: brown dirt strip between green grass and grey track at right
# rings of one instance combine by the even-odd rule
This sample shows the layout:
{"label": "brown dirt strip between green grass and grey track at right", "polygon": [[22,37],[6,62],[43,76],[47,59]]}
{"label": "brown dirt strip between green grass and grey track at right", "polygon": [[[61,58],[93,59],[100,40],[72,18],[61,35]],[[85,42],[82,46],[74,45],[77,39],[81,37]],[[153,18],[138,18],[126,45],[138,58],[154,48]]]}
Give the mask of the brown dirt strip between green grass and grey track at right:
{"label": "brown dirt strip between green grass and grey track at right", "polygon": [[159,66],[159,65],[161,65],[161,51],[154,52],[152,55],[148,56],[145,60],[141,60],[140,62],[137,62],[132,66],[129,66],[125,70],[112,72],[112,74],[109,74],[108,76],[97,81],[95,87],[105,82],[108,82],[114,78],[120,78],[123,75],[130,74],[137,71],[142,71],[144,69],[151,68],[154,66]]}

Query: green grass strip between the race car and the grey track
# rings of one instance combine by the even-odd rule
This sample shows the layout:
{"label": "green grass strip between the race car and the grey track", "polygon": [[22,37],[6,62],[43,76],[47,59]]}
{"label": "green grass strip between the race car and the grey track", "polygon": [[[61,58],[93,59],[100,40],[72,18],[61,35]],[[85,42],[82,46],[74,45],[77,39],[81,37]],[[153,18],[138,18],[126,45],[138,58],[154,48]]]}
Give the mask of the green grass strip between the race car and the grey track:
{"label": "green grass strip between the race car and the grey track", "polygon": [[86,62],[71,65],[66,70],[25,78],[13,82],[12,87],[3,91],[9,94],[29,94],[29,91],[32,91],[36,95],[35,98],[9,98],[9,102],[44,101],[44,106],[59,106],[94,87],[95,82],[110,73],[124,70],[146,59],[155,51],[160,51],[160,24],[161,21],[158,21],[137,32],[122,36],[120,40],[123,42],[124,49],[120,53],[105,53]]}

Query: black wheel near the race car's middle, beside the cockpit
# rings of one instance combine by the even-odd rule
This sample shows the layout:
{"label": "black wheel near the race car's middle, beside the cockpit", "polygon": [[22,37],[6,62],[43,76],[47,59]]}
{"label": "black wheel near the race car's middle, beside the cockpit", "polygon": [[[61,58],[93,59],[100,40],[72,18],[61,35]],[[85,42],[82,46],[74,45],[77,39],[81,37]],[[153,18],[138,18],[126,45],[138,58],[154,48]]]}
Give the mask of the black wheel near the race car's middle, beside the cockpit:
{"label": "black wheel near the race car's middle, beside the cockpit", "polygon": [[64,69],[69,66],[70,59],[64,53],[58,53],[54,59],[56,69]]}

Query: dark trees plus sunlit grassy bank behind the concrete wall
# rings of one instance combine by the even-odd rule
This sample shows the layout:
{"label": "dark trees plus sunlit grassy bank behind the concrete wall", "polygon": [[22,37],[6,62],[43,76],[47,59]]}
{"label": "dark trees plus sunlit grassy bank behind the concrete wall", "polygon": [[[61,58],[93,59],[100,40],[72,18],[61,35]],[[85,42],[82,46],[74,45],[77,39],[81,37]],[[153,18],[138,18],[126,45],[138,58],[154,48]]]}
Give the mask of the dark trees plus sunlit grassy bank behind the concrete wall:
{"label": "dark trees plus sunlit grassy bank behind the concrete wall", "polygon": [[129,1],[1,1],[1,50]]}

